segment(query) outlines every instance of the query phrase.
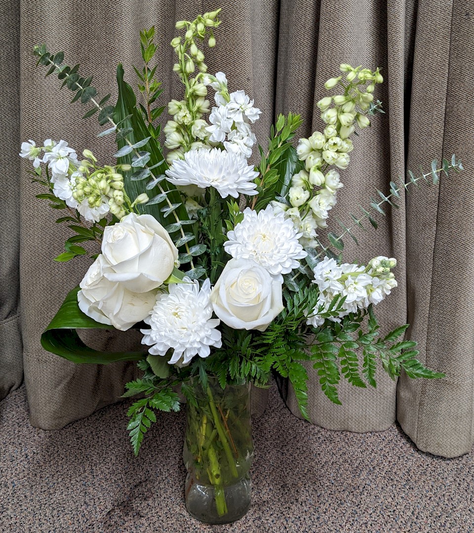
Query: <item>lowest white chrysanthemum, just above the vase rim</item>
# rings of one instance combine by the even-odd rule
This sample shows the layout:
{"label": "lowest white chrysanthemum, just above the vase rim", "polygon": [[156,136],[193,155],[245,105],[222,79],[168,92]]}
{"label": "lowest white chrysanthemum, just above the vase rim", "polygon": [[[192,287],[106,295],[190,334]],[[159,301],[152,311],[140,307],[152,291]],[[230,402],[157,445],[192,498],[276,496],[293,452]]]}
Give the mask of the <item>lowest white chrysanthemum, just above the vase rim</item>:
{"label": "lowest white chrysanthemum, just above the vase rim", "polygon": [[144,337],[142,344],[148,344],[149,353],[165,356],[173,349],[170,365],[178,363],[187,365],[197,354],[205,358],[210,353],[210,346],[222,346],[221,332],[215,329],[220,320],[212,317],[210,301],[211,282],[206,279],[199,290],[199,282],[168,285],[168,293],[158,293],[156,304],[150,316],[144,321],[151,329],[141,329]]}

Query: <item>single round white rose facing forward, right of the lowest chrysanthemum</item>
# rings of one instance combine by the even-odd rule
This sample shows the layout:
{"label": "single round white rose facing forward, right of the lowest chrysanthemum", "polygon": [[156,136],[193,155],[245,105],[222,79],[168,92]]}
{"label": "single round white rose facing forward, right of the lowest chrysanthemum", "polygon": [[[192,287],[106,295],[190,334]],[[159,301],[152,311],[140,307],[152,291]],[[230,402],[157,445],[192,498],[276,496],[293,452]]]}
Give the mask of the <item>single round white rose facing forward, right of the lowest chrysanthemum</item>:
{"label": "single round white rose facing forward, right of the lowest chrysanthemum", "polygon": [[211,302],[224,324],[263,332],[283,311],[282,277],[252,259],[231,259],[212,289]]}

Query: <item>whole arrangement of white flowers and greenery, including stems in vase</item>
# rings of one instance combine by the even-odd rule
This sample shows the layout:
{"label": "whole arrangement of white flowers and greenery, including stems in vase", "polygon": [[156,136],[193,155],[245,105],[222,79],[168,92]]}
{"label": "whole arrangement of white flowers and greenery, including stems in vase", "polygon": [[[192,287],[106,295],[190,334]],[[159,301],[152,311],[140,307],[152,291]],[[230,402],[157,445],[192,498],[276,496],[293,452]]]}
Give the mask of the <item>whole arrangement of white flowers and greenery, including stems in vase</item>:
{"label": "whole arrangement of white flowers and greenery, including stems in vase", "polygon": [[[416,359],[416,343],[403,340],[407,325],[379,335],[374,307],[397,287],[396,260],[343,262],[343,238],[357,242],[355,231],[364,221],[376,227],[374,213],[384,214],[382,206],[393,205],[401,187],[437,183],[440,172],[461,170],[460,161],[453,156],[440,168],[433,161],[430,172],[410,173],[408,183],[390,182],[388,195],[377,191],[379,201],[371,199],[360,216],[352,215],[351,227],[341,223],[340,235],[327,233],[352,138],[383,112],[374,98],[383,82],[380,70],[341,64],[340,74],[325,83],[334,94],[317,102],[324,130],[296,143],[299,115],[279,115],[263,149],[252,131],[261,110],[244,91],[231,91],[223,72],[212,75],[204,63],[202,48],[215,46],[219,11],[176,23],[181,35],[171,41],[173,70],[183,97],[167,105],[166,157],[156,125],[164,108],[156,107],[162,90],[152,67],[154,28],[140,33],[143,67],[134,68],[138,104],[121,65],[118,101],[110,106],[109,96],[99,99],[92,77],[63,64],[62,52],[52,54],[45,45],[34,50],[38,63],[49,67],[47,74],[75,93],[73,102],[92,103],[85,118],[98,113],[99,123],[107,125],[100,136],[115,134],[118,146],[117,164],[104,166],[87,149],[79,161],[63,140],[21,145],[20,156],[33,161],[33,181],[47,189],[38,197],[64,209],[58,222],[74,233],[56,261],[85,254],[93,260],[42,344],[75,362],[138,361],[142,375],[127,383],[124,394],[141,394],[128,411],[135,454],[156,420],[154,409],[180,408],[176,387],[197,406],[191,379],[211,393],[211,376],[224,389],[249,382],[264,387],[277,373],[289,379],[308,419],[303,362],[317,369],[324,393],[335,403],[341,377],[358,387],[375,386],[377,359],[392,378],[402,370],[413,378],[443,377]],[[257,146],[260,161],[254,165],[249,158]],[[132,327],[143,334],[144,351],[97,352],[76,333]],[[212,394],[207,400],[212,407]],[[207,420],[214,432],[206,433]],[[219,487],[216,472],[223,472],[232,435],[216,409],[206,421],[195,415],[199,457],[211,450],[208,476]],[[215,449],[213,439],[220,439]],[[225,500],[218,491],[215,498],[224,514]]]}

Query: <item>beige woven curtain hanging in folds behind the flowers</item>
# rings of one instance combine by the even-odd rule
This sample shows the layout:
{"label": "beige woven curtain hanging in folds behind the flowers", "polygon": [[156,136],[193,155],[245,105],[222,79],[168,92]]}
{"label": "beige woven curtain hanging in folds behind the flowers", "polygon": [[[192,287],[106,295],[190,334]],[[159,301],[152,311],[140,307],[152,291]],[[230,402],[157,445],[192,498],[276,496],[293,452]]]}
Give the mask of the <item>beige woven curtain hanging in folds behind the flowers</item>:
{"label": "beige woven curtain hanging in folds behind the flowers", "polygon": [[[470,450],[474,440],[474,288],[469,277],[474,262],[473,4],[223,0],[218,44],[206,55],[210,71],[224,70],[231,87],[244,88],[263,110],[256,131],[262,144],[278,112],[302,114],[300,136],[322,127],[315,103],[339,63],[383,69],[385,83],[377,98],[387,115],[375,117],[369,131],[355,141],[335,210],[343,221],[350,222],[349,212],[357,204],[366,206],[376,189],[388,190],[390,180],[405,176],[408,168],[416,173],[424,164],[428,169],[431,159],[453,152],[462,158],[462,174],[407,195],[399,209],[377,219],[377,231],[368,225],[360,248],[347,241],[344,252],[348,261],[380,254],[397,257],[399,287],[377,308],[377,316],[384,330],[409,321],[420,358],[447,377],[430,382],[402,377],[397,384],[380,373],[377,389],[363,391],[341,384],[341,407],[324,397],[309,369],[314,423],[335,430],[377,431],[397,418],[417,446],[447,457]],[[79,8],[72,0],[23,0],[19,5],[8,0],[0,8],[0,168],[5,175],[0,182],[0,394],[19,385],[23,367],[35,426],[57,429],[115,401],[135,370],[133,364],[77,366],[39,344],[42,330],[66,291],[81,280],[87,263],[52,261],[62,251],[67,230],[34,197],[40,191],[30,184],[26,166],[20,173],[20,140],[66,139],[78,150],[92,149],[105,162],[113,152],[108,138],[95,138],[97,122],[81,120],[80,104],[69,104],[70,93],[58,91],[58,80],[44,79],[44,70],[35,68],[31,48],[46,42],[53,51],[64,50],[67,62],[78,62],[85,74],[95,74],[100,94],[112,88],[114,98],[116,64],[125,64],[126,78],[133,83],[131,65],[140,65],[139,30],[155,25],[158,72],[167,101],[179,94],[168,47],[174,22],[216,6],[192,0],[86,0]],[[129,337],[125,340],[136,342]],[[123,345],[124,339],[114,335],[94,341]],[[296,414],[291,394],[288,405]]]}

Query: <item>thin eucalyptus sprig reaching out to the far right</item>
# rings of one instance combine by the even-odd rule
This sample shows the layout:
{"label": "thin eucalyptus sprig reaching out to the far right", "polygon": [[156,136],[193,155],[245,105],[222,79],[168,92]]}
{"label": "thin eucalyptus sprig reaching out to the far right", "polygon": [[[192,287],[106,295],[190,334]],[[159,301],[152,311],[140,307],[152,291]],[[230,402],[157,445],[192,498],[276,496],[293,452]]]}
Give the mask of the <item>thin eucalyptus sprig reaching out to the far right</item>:
{"label": "thin eucalyptus sprig reaching out to the far right", "polygon": [[[381,198],[380,201],[377,201],[377,199],[371,198],[370,207],[368,209],[371,209],[373,212],[380,213],[385,216],[385,211],[382,208],[382,205],[389,204],[393,208],[398,208],[398,205],[396,204],[396,198],[400,198],[400,191],[402,189],[405,189],[405,191],[409,192],[409,187],[415,186],[417,188],[420,187],[419,182],[426,182],[428,185],[436,185],[439,181],[439,174],[441,172],[444,172],[446,177],[449,177],[449,171],[453,169],[455,172],[460,172],[463,170],[463,166],[461,163],[461,160],[457,159],[456,156],[453,154],[451,158],[451,163],[447,159],[443,159],[441,168],[437,168],[438,161],[436,159],[433,159],[431,162],[431,170],[430,172],[425,173],[423,171],[423,168],[420,167],[421,175],[416,176],[413,174],[412,171],[408,171],[409,181],[408,182],[401,182],[401,185],[397,185],[395,182],[390,182],[390,193],[388,196],[385,196],[382,191],[377,190],[377,195]],[[344,249],[344,241],[342,240],[343,237],[348,235],[351,237],[352,240],[358,245],[358,240],[354,235],[354,230],[357,228],[365,231],[365,227],[362,224],[364,220],[368,220],[372,226],[377,229],[377,222],[374,220],[374,217],[371,213],[369,213],[368,209],[364,209],[363,207],[359,206],[359,209],[362,213],[361,216],[357,217],[356,215],[350,213],[351,219],[354,222],[350,227],[345,225],[343,222],[341,222],[336,217],[336,222],[340,225],[342,228],[342,233],[340,235],[335,235],[335,233],[328,233],[327,238],[330,241],[330,244],[339,252],[342,253]],[[316,256],[317,257],[328,255],[332,257],[337,257],[337,253],[335,253],[330,246],[325,247],[324,245],[320,244],[322,247],[322,251],[320,251]]]}

